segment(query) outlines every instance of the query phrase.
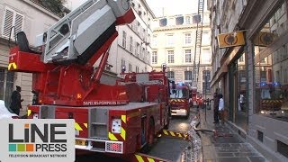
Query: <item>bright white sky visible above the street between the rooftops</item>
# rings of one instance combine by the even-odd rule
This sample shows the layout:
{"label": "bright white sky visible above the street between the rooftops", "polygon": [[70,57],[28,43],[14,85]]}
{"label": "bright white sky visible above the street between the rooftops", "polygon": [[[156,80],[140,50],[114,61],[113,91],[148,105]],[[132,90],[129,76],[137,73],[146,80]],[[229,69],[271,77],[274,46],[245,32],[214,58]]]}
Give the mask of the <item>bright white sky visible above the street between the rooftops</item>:
{"label": "bright white sky visible above the street between the rooftops", "polygon": [[[68,8],[76,9],[87,0],[67,0]],[[150,9],[157,16],[197,13],[198,0],[146,0]]]}

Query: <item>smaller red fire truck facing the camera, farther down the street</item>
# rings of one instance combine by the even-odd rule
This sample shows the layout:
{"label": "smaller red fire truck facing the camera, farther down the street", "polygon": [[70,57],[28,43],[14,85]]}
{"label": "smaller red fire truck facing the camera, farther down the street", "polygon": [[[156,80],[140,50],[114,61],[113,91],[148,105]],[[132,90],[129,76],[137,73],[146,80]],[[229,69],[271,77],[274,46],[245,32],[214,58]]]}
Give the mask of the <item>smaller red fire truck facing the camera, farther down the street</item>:
{"label": "smaller red fire truck facing the camera, farther down the street", "polygon": [[169,104],[172,116],[185,116],[188,119],[190,115],[189,87],[182,84],[170,86]]}

